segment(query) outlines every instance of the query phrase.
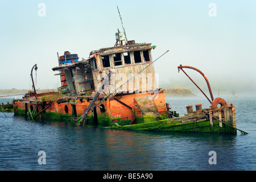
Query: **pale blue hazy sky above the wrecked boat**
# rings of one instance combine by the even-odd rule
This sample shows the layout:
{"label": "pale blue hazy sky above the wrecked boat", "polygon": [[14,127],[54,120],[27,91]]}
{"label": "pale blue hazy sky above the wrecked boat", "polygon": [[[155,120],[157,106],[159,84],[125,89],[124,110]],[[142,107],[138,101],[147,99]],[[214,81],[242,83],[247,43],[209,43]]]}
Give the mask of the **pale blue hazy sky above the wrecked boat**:
{"label": "pale blue hazy sky above the wrecked boat", "polygon": [[[128,40],[157,46],[153,59],[170,50],[154,64],[160,86],[197,90],[177,72],[182,64],[204,72],[215,94],[256,92],[254,0],[0,0],[0,89],[31,88],[34,64],[37,89],[60,86],[52,71],[58,65],[57,52],[77,53],[81,59],[114,46],[117,28],[122,31],[117,6]],[[208,93],[199,73],[184,70]]]}

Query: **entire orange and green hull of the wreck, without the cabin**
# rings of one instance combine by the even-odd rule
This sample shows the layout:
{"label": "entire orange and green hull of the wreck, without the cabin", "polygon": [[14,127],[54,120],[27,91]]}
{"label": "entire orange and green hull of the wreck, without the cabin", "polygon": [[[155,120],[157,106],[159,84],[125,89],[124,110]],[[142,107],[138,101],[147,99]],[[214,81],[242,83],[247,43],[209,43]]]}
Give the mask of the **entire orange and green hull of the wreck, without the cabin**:
{"label": "entire orange and green hull of the wreck, without the cabin", "polygon": [[[168,118],[169,108],[164,90],[159,91],[158,97],[154,96],[146,92],[109,97],[108,100],[101,102],[100,107],[94,107],[94,110],[89,111],[86,122],[102,123],[109,128],[122,130],[237,134],[236,111],[233,105],[217,109],[202,109],[201,105],[196,105],[196,111],[188,106],[188,114]],[[13,106],[17,115],[76,123],[74,118],[82,115],[91,101],[92,97],[63,97],[52,102],[14,100]]]}

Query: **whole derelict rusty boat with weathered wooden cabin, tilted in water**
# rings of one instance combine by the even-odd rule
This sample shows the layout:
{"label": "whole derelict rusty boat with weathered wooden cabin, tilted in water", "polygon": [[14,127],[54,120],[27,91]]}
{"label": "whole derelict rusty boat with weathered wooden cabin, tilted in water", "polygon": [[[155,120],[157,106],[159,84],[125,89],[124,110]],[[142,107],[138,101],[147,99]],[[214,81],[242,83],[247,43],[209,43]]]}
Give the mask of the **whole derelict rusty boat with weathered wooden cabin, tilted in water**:
{"label": "whole derelict rusty boat with weathered wooden cabin, tilted in water", "polygon": [[[124,30],[124,28],[123,28]],[[14,113],[30,119],[54,119],[87,125],[102,124],[110,129],[214,132],[237,134],[235,107],[223,98],[213,98],[204,73],[194,69],[207,81],[211,99],[203,109],[200,104],[187,106],[187,114],[180,116],[166,103],[164,90],[158,88],[151,43],[127,40],[125,30],[115,34],[113,47],[91,51],[87,59],[65,51],[52,68],[60,76],[61,85],[56,92],[36,93],[31,69],[32,90],[22,99],[13,100]],[[146,81],[146,82],[144,82]],[[185,107],[185,106],[184,106]]]}

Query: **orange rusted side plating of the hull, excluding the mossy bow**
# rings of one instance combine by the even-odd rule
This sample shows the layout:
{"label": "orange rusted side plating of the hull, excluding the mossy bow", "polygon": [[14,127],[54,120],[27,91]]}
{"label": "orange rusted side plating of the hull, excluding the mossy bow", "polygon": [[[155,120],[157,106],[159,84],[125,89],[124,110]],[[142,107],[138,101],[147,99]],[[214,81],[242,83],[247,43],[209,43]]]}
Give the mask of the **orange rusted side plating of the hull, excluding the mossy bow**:
{"label": "orange rusted side plating of the hull, excluding the mossy bow", "polygon": [[[44,94],[46,95],[46,94]],[[113,122],[130,123],[136,119],[139,122],[143,122],[146,115],[141,114],[141,111],[135,110],[136,98],[150,97],[154,98],[155,94],[148,92],[123,94],[122,96],[109,97],[106,101],[101,102],[100,107],[95,107],[94,111],[89,111],[88,115],[92,116],[97,114],[97,121],[99,123]],[[101,98],[95,102],[100,102]],[[67,120],[74,117],[79,117],[84,113],[87,107],[90,105],[92,97],[63,97],[58,101],[40,101],[39,100],[14,100],[14,113],[18,115],[28,115],[28,117],[34,118],[36,114],[39,114],[39,118],[46,119],[58,119]],[[158,96],[154,98],[154,104],[157,108],[159,116],[166,117],[166,102],[164,96],[164,90],[160,90]],[[46,109],[46,107],[48,107]],[[154,114],[152,114],[154,116]],[[91,117],[91,119],[93,119]],[[139,118],[139,119],[138,119]],[[95,118],[94,118],[95,119]],[[157,116],[155,115],[155,119]],[[90,119],[89,119],[90,120]],[[136,122],[135,122],[136,123]]]}

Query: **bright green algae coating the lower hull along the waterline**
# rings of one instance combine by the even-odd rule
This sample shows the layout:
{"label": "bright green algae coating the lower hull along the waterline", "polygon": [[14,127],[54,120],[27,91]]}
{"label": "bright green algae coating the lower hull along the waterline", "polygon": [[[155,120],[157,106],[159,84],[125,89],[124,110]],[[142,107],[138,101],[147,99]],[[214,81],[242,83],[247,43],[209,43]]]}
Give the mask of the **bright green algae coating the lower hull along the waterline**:
{"label": "bright green algae coating the lower hull along the waterline", "polygon": [[[24,109],[17,110],[18,115],[26,115]],[[34,111],[32,115],[38,114],[37,111]],[[27,111],[28,117],[30,117],[30,112]],[[81,115],[77,115],[76,117],[70,114],[59,114],[55,112],[44,112],[41,113],[42,118],[53,119],[59,121],[65,121],[69,123],[77,123],[73,118],[79,118]],[[155,117],[137,117],[137,123],[134,125],[130,125],[130,119],[122,119],[116,118],[115,122],[112,122],[112,119],[105,114],[97,115],[97,123],[104,124],[105,128],[109,129],[118,129],[118,130],[137,130],[137,131],[167,131],[167,132],[206,132],[206,133],[232,133],[236,134],[237,130],[229,127],[227,125],[222,125],[220,127],[219,121],[213,120],[213,125],[210,125],[210,121],[208,119],[188,119],[189,115],[179,118],[166,119],[163,115],[161,115],[156,120]],[[199,117],[197,115],[197,117]],[[200,114],[200,118],[204,118],[205,115],[202,116]],[[186,120],[187,119],[187,120]],[[93,115],[90,114],[86,118],[86,123],[95,123],[95,119]],[[232,125],[232,122],[226,122],[228,125]]]}

